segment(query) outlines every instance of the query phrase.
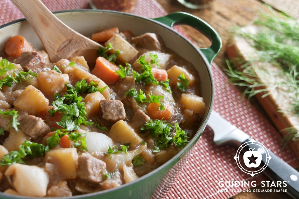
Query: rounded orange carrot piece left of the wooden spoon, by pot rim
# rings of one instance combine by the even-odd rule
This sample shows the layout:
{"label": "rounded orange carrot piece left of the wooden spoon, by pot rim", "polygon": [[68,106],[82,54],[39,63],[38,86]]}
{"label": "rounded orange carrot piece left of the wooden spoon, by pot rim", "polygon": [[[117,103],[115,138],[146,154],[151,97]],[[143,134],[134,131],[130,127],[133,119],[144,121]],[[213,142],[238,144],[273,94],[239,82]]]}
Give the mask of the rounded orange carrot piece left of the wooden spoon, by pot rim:
{"label": "rounded orange carrot piece left of the wooden spoon, by pot rim", "polygon": [[19,57],[21,53],[32,49],[31,44],[20,35],[11,37],[4,45],[4,51],[10,57]]}

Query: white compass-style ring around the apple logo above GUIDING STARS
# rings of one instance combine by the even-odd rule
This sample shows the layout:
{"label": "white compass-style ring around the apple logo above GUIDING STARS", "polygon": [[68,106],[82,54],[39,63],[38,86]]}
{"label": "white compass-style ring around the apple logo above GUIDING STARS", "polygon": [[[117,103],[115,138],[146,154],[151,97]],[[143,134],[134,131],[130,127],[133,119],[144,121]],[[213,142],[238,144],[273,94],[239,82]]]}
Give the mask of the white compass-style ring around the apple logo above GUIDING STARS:
{"label": "white compass-style ring around the apple logo above GUIDING STARS", "polygon": [[[247,151],[247,149],[249,148],[248,145],[250,145],[251,147],[252,147],[252,145],[257,145],[257,151],[260,152],[260,151],[262,150],[262,152],[260,152],[260,153],[261,153],[261,154],[263,153],[263,154],[266,155],[266,160],[264,161],[264,164],[263,164],[262,166],[259,165],[259,167],[258,167],[257,170],[255,170],[255,171],[247,170],[246,168],[244,168],[244,167],[242,166],[242,163],[241,163],[241,161],[244,162],[244,160],[243,160],[243,156],[242,156],[242,154],[241,154],[241,151],[242,151],[242,149],[243,149],[244,147],[246,147],[245,149],[246,149],[246,151]],[[250,148],[251,148],[251,147],[250,147]],[[250,150],[250,149],[249,149],[249,150]],[[270,161],[270,159],[271,159],[271,156],[269,155],[269,151],[268,151],[268,149],[267,149],[262,143],[257,142],[257,141],[255,141],[254,139],[251,139],[250,141],[243,143],[243,144],[238,148],[237,153],[236,153],[236,155],[234,156],[234,159],[236,160],[236,162],[237,162],[237,166],[239,167],[239,169],[240,169],[241,171],[243,171],[244,173],[247,173],[247,174],[249,174],[249,175],[251,175],[251,176],[253,177],[254,175],[256,175],[256,174],[258,174],[258,173],[261,173],[261,172],[263,172],[263,171],[266,169],[266,167],[268,166],[269,161]],[[244,162],[244,163],[245,163],[245,162]],[[253,168],[255,168],[255,167],[253,167]]]}

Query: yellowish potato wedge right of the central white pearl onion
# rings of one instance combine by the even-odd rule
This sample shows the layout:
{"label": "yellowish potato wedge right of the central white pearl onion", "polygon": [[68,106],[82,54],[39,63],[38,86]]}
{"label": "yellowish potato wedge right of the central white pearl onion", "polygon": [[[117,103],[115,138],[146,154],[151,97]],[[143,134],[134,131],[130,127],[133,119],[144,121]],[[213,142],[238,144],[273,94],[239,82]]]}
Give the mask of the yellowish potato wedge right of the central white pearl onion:
{"label": "yellowish potato wedge right of the central white pearl onion", "polygon": [[110,129],[110,135],[121,144],[130,143],[130,148],[136,148],[143,141],[141,137],[123,120],[117,121]]}

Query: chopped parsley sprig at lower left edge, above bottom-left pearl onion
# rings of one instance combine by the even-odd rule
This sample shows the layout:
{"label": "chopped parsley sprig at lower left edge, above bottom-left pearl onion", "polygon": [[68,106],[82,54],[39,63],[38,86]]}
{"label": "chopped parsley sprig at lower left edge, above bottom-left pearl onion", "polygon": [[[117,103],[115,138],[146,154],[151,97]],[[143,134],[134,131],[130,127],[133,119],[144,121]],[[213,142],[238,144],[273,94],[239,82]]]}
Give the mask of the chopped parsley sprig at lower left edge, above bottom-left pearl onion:
{"label": "chopped parsley sprig at lower left edge, above bottom-left pearl onion", "polygon": [[25,142],[19,147],[18,151],[10,151],[4,155],[0,161],[0,166],[10,166],[14,163],[25,164],[22,158],[28,157],[39,157],[45,155],[50,149],[48,146],[38,144],[25,140]]}

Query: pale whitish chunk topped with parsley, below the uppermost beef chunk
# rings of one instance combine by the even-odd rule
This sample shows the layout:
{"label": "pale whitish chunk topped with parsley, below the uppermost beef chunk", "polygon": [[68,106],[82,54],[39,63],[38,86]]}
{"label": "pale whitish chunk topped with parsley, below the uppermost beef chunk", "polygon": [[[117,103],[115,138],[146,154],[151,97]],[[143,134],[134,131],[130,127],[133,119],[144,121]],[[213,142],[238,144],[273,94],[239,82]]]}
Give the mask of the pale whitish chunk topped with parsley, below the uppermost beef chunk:
{"label": "pale whitish chunk topped with parsley, below the uppermost beef chunk", "polygon": [[[160,52],[156,52],[156,51],[148,51],[146,53],[143,53],[141,56],[144,55],[144,61],[147,61],[148,63],[150,63],[150,61],[152,60],[152,58],[150,57],[150,54],[153,54],[153,55],[157,55],[158,56],[158,60],[160,60],[158,62],[158,65],[159,66],[156,66],[155,64],[151,64],[152,67],[155,67],[155,68],[161,68],[161,69],[165,69],[168,62],[170,61],[171,59],[171,55],[168,54],[168,53],[160,53]],[[140,56],[140,57],[141,57]],[[140,58],[139,57],[139,58]],[[137,67],[141,66],[141,64],[138,64],[137,61],[139,60],[136,59],[136,61],[134,62],[133,64],[133,68],[136,70]]]}

